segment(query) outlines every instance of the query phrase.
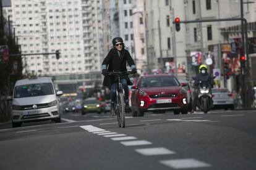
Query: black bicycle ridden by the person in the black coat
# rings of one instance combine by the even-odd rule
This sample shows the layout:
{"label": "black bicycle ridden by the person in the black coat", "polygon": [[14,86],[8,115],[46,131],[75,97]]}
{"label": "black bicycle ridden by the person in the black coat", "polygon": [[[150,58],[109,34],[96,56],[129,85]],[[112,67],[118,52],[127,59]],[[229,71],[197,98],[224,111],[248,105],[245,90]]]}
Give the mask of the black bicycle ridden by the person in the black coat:
{"label": "black bicycle ridden by the person in the black coat", "polygon": [[116,75],[117,78],[117,87],[116,87],[116,101],[114,102],[114,113],[117,116],[117,122],[119,127],[126,127],[126,104],[124,102],[124,88],[121,84],[121,76],[122,75],[130,75],[132,71],[111,71],[108,72],[108,75]]}

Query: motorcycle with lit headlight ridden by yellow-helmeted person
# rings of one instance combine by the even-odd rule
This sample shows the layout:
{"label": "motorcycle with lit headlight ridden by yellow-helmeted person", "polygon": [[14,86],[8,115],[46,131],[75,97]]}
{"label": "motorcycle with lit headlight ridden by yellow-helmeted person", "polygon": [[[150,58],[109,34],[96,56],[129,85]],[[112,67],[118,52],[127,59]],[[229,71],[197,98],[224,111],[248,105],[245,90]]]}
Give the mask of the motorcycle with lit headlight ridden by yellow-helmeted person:
{"label": "motorcycle with lit headlight ridden by yellow-helmeted person", "polygon": [[209,84],[209,81],[200,81],[197,88],[197,107],[200,108],[203,113],[207,113],[213,107],[211,85]]}

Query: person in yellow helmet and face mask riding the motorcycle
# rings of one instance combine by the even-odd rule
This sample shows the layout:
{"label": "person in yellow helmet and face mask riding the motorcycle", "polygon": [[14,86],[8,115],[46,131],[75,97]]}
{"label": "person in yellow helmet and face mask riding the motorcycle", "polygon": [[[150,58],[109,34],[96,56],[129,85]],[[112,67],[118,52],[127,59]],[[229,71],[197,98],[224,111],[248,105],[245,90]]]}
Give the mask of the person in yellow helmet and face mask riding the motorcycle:
{"label": "person in yellow helmet and face mask riding the motorcycle", "polygon": [[[194,81],[193,86],[195,89],[198,87],[200,82],[203,82],[203,81],[208,81],[208,83],[210,84],[211,87],[213,87],[213,84],[214,84],[213,77],[207,73],[207,65],[204,65],[204,64],[200,65],[199,74],[197,74],[197,76],[195,76],[194,80],[195,81]],[[196,109],[197,109],[197,100],[198,100],[198,91],[196,89],[195,94],[194,94],[194,100],[193,100],[191,113],[194,113],[194,111],[196,111]]]}

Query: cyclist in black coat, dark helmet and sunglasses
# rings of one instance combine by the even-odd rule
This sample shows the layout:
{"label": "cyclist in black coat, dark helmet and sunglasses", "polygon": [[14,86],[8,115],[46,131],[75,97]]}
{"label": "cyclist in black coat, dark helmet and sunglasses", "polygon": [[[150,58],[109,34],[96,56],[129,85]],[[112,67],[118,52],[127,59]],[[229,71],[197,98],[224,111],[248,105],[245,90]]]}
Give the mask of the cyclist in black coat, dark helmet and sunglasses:
{"label": "cyclist in black coat, dark helmet and sunglasses", "polygon": [[[103,86],[111,90],[111,114],[114,112],[114,102],[116,100],[117,77],[108,75],[108,71],[127,71],[126,63],[128,63],[132,73],[137,73],[134,60],[130,56],[129,51],[124,48],[122,38],[113,38],[112,43],[113,48],[108,52],[101,65],[101,74],[105,76]],[[132,81],[130,81],[128,75],[124,75],[121,77],[121,83],[125,92],[126,110],[129,110],[128,85],[132,85]]]}

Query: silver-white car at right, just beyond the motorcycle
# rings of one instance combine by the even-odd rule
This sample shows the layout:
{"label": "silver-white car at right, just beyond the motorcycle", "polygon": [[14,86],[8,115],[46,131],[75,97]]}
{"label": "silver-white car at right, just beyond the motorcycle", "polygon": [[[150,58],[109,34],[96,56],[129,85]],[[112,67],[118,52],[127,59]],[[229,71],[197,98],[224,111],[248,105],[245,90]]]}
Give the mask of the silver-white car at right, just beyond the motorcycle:
{"label": "silver-white car at right, just beyond the motorcycle", "polygon": [[213,96],[213,108],[231,108],[235,107],[234,94],[226,88],[211,89]]}

